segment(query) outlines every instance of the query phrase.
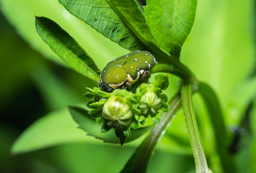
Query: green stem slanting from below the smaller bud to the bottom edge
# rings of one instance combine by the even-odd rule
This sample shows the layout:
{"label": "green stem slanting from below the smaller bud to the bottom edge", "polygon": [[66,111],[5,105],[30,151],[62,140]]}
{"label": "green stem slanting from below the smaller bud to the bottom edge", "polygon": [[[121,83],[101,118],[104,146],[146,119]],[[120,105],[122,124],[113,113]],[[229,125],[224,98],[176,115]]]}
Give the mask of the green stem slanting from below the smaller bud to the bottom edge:
{"label": "green stem slanting from below the smaller bud to the bottom edge", "polygon": [[157,142],[165,133],[165,129],[169,126],[171,119],[176,111],[181,107],[180,92],[178,92],[170,101],[170,111],[164,113],[161,122],[156,124],[148,137],[144,139],[141,145],[136,148],[134,154],[124,166],[121,173],[145,173],[148,162],[150,161]]}

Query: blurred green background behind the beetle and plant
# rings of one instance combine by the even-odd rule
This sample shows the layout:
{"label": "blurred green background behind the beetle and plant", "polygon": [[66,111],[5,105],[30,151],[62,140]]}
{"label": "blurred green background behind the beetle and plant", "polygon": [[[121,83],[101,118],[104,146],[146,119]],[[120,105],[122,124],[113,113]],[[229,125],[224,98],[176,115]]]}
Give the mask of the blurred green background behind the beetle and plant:
{"label": "blurred green background behind the beetle and plant", "polygon": [[[36,32],[35,15],[58,23],[87,51],[99,69],[129,52],[69,14],[58,0],[0,0],[0,172],[119,172],[143,137],[120,147],[86,136],[76,128],[67,105],[85,102],[85,86],[96,84],[69,69],[48,48]],[[229,135],[234,136],[230,151],[238,171],[256,171],[255,1],[199,0],[181,61],[199,80],[215,89]],[[170,75],[166,94],[172,96],[178,85],[178,78]],[[209,167],[221,173],[214,132],[197,94],[194,105]],[[52,111],[63,115],[72,128],[59,129],[58,122],[46,125],[40,133],[28,134],[32,142],[26,145],[33,146],[40,138],[51,140],[47,136],[50,132],[43,134],[46,129],[60,133],[69,130],[70,134],[39,147],[40,150],[13,155],[10,151],[15,139]],[[235,136],[240,136],[238,142]],[[192,173],[194,167],[180,111],[158,145],[148,173]]]}

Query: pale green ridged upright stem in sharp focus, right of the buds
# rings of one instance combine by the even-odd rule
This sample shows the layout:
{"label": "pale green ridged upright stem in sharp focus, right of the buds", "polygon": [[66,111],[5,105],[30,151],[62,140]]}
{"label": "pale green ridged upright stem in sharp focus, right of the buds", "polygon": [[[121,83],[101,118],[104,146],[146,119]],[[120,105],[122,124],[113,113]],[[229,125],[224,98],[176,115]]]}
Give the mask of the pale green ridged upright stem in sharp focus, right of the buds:
{"label": "pale green ridged upright stem in sharp focus, right of the buds", "polygon": [[185,115],[188,135],[193,150],[193,155],[196,164],[196,173],[211,173],[208,168],[206,157],[204,154],[201,137],[199,134],[196,115],[192,103],[193,85],[191,82],[186,82],[181,87],[181,101]]}

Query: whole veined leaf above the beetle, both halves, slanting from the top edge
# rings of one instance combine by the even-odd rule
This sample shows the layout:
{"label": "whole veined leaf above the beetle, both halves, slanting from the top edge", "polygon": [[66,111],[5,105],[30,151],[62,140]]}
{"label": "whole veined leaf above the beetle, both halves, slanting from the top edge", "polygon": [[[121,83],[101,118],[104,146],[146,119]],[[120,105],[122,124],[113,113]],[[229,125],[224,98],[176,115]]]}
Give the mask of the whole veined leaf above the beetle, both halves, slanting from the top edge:
{"label": "whole veined leaf above the beetle, both halves, slanting from the top edge", "polygon": [[[59,0],[67,11],[123,48],[148,50],[159,62],[173,60],[155,44],[143,12],[135,0]],[[107,2],[108,1],[108,2]]]}

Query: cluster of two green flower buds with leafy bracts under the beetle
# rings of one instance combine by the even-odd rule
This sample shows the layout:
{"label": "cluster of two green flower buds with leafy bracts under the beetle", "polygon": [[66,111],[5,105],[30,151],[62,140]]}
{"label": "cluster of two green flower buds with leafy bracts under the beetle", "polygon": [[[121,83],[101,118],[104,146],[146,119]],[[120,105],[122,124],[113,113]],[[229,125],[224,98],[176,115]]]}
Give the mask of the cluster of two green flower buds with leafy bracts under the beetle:
{"label": "cluster of two green flower buds with leafy bracts under the beetle", "polygon": [[[163,84],[165,83],[165,84]],[[87,107],[89,114],[102,124],[101,132],[115,129],[121,144],[126,136],[131,135],[130,129],[137,129],[146,123],[147,118],[160,122],[162,111],[169,111],[168,98],[162,94],[162,89],[168,86],[168,76],[158,75],[153,84],[141,84],[135,94],[125,89],[115,89],[112,93],[104,92],[100,88],[86,88],[84,94],[90,101]]]}

